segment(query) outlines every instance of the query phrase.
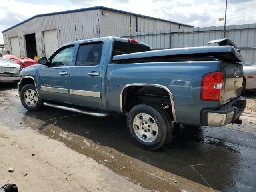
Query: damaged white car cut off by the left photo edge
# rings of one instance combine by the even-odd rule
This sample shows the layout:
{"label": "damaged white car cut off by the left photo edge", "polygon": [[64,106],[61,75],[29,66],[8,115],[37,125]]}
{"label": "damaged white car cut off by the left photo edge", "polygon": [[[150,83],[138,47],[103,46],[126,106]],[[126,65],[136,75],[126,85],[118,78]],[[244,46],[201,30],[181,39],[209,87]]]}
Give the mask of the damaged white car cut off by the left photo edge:
{"label": "damaged white car cut off by the left photo edge", "polygon": [[20,80],[20,65],[10,59],[0,58],[0,83]]}

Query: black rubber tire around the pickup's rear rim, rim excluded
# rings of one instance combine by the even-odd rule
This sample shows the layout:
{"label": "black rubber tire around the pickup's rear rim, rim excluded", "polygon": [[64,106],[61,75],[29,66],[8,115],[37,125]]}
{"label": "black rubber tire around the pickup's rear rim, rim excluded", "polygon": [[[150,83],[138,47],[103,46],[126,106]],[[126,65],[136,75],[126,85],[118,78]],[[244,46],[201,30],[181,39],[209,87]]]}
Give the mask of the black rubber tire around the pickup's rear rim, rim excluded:
{"label": "black rubber tire around the pickup's rear rim, rim excluded", "polygon": [[[147,138],[144,138],[143,136],[141,137],[143,139],[142,140],[141,138],[139,138],[139,136],[136,135],[134,131],[134,119],[141,113],[145,113],[151,116],[151,120],[156,123],[158,127],[157,136],[152,141],[146,142]],[[148,150],[157,150],[161,148],[166,143],[166,141],[168,141],[167,138],[169,138],[170,134],[172,133],[172,123],[170,122],[168,115],[166,114],[164,109],[162,109],[160,106],[157,106],[156,104],[139,104],[137,106],[134,106],[132,110],[130,110],[127,117],[127,128],[132,140],[138,146]],[[142,129],[138,126],[137,128],[138,130]]]}

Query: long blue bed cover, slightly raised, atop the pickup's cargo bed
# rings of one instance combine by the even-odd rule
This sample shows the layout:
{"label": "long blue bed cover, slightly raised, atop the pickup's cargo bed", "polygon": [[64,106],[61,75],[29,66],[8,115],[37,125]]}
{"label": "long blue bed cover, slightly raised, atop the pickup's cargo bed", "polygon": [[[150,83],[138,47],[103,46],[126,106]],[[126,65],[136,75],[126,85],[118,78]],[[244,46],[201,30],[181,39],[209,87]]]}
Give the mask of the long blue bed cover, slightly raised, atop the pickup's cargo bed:
{"label": "long blue bed cover, slightly raised, atop the pickup's cargo bed", "polygon": [[[143,62],[145,59],[190,60],[191,58],[204,58],[210,60],[221,59],[229,62],[244,62],[244,58],[233,46],[206,46],[190,48],[174,48],[165,50],[146,51],[132,54],[116,55],[114,62]],[[146,60],[145,60],[146,61]],[[148,60],[147,60],[148,61]]]}

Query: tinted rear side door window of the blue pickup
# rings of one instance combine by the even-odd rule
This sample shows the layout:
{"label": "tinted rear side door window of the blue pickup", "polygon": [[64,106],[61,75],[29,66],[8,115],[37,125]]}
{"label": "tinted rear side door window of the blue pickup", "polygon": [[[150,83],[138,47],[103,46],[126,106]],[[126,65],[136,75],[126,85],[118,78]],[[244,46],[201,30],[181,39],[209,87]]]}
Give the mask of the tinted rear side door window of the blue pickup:
{"label": "tinted rear side door window of the blue pickup", "polygon": [[80,45],[78,49],[77,57],[76,57],[76,66],[98,65],[100,63],[102,47],[103,47],[102,42]]}

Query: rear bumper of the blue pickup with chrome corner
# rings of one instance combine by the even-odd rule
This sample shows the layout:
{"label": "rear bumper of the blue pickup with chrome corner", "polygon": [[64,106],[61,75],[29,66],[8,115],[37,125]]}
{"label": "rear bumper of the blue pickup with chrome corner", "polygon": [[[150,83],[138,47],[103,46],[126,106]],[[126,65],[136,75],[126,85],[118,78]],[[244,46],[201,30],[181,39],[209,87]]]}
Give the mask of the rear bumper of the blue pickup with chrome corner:
{"label": "rear bumper of the blue pickup with chrome corner", "polygon": [[244,112],[245,106],[246,99],[240,96],[219,110],[202,110],[202,126],[224,126],[235,122]]}

